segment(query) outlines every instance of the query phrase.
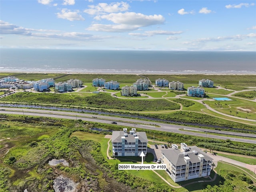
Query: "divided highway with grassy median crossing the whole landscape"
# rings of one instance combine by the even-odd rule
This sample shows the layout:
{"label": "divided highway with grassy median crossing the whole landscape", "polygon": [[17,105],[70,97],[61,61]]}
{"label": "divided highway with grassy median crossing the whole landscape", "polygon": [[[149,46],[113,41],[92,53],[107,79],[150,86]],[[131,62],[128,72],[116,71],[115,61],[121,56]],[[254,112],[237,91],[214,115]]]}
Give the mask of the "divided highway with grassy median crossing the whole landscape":
{"label": "divided highway with grassy median crossing the whole landscape", "polygon": [[[100,123],[111,123],[113,121],[118,122],[118,125],[130,126],[135,128],[144,128],[149,130],[159,130],[166,132],[173,132],[179,134],[187,134],[192,136],[201,136],[207,138],[216,138],[216,139],[230,139],[237,142],[246,142],[251,144],[256,144],[256,134],[244,134],[238,132],[227,132],[219,130],[207,130],[202,128],[194,128],[189,126],[180,126],[173,124],[165,124],[160,122],[150,122],[148,120],[138,120],[130,119],[124,117],[112,117],[112,116],[102,116],[95,114],[83,114],[83,113],[74,113],[74,112],[64,112],[56,110],[37,110],[37,109],[22,109],[22,108],[0,108],[0,114],[18,114],[24,116],[42,116],[42,117],[52,117],[52,118],[65,118],[65,119],[81,119],[84,121],[91,122],[100,122]],[[185,131],[186,129],[188,131]],[[194,132],[191,132],[194,130]],[[209,134],[209,132],[218,133],[218,135]],[[230,137],[240,136],[240,138]]]}

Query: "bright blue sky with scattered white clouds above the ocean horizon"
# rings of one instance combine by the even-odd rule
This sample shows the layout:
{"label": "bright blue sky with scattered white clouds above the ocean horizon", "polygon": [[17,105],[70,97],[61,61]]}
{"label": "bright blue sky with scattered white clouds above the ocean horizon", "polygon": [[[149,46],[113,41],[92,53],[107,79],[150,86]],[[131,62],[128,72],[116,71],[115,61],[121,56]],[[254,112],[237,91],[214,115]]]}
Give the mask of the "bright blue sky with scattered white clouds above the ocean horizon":
{"label": "bright blue sky with scattered white clouds above the ocean horizon", "polygon": [[0,0],[0,47],[256,51],[256,1]]}

